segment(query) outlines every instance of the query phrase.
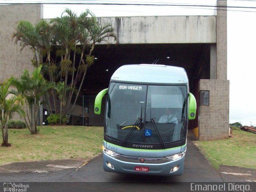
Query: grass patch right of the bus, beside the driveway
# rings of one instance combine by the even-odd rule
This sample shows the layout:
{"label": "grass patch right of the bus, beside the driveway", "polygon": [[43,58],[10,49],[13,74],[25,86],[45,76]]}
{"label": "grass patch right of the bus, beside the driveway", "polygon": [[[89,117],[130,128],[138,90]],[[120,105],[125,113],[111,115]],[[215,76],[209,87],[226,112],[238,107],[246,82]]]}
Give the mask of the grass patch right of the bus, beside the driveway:
{"label": "grass patch right of the bus, beside the driveway", "polygon": [[232,137],[217,141],[195,141],[216,169],[220,165],[256,169],[256,135],[233,130]]}

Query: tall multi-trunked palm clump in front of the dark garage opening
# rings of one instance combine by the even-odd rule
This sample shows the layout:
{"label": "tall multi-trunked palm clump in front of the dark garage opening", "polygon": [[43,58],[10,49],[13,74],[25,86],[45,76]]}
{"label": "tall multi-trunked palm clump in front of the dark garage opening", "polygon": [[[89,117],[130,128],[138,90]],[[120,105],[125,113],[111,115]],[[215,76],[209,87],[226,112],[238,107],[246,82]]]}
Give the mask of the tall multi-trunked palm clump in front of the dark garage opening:
{"label": "tall multi-trunked palm clump in front of the dark garage opening", "polygon": [[[112,26],[110,24],[102,26],[89,10],[78,16],[70,9],[66,9],[61,17],[53,18],[50,23],[40,21],[35,27],[21,21],[13,38],[16,43],[20,42],[22,49],[28,46],[34,53],[40,56],[44,54],[46,59],[43,61],[42,71],[48,75],[50,82],[55,85],[61,82],[63,85],[61,92],[58,92],[58,89],[51,89],[49,91],[51,96],[45,98],[48,100],[48,110],[50,112],[54,110],[59,114],[60,121],[66,116],[74,95],[76,98],[69,114],[76,105],[87,69],[94,64],[92,53],[95,45],[101,42],[108,44],[110,38],[114,38],[114,41],[117,39]],[[60,62],[51,58],[52,51],[56,51],[55,54],[60,57]],[[77,54],[80,54],[78,65]],[[40,62],[36,63],[40,64]],[[54,104],[53,109],[50,100]]]}

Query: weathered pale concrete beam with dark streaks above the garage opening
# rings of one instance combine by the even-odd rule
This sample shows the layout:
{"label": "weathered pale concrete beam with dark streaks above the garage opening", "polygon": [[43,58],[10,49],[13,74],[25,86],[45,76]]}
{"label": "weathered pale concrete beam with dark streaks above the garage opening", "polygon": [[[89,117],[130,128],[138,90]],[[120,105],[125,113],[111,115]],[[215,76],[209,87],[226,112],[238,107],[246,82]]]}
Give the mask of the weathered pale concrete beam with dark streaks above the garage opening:
{"label": "weathered pale concrete beam with dark streaks above the garage opening", "polygon": [[98,20],[103,26],[112,25],[118,44],[216,43],[216,16],[100,17]]}

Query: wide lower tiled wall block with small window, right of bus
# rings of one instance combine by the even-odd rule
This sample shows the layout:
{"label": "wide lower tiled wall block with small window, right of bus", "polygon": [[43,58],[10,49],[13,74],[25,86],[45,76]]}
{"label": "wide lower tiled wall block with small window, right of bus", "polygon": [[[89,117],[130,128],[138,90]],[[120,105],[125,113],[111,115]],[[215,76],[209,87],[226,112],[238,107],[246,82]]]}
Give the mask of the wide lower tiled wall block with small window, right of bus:
{"label": "wide lower tiled wall block with small window, right of bus", "polygon": [[199,140],[228,138],[229,131],[229,81],[201,79],[200,90],[209,91],[209,105],[199,107]]}

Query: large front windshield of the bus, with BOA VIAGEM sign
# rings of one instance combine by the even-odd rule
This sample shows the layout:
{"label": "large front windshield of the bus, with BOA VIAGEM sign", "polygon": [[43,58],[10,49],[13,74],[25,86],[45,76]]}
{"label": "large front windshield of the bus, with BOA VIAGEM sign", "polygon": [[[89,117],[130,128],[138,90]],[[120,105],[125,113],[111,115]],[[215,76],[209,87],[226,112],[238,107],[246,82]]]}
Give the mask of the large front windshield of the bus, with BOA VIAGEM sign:
{"label": "large front windshield of the bus, with BOA VIAGEM sign", "polygon": [[184,140],[187,92],[185,85],[111,82],[106,102],[105,136],[138,144]]}

